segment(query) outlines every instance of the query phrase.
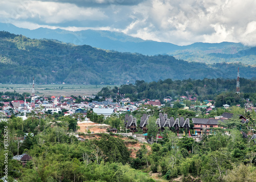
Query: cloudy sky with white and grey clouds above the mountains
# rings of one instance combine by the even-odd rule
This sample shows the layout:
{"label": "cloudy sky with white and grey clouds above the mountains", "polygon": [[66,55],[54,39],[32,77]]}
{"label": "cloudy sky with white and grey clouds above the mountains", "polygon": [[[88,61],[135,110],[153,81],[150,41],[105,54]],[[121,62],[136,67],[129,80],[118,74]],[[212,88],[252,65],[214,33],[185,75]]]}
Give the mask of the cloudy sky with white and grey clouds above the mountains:
{"label": "cloudy sky with white and grey clouds above the mountains", "polygon": [[256,45],[255,0],[8,0],[0,22],[36,29],[110,30],[187,45]]}

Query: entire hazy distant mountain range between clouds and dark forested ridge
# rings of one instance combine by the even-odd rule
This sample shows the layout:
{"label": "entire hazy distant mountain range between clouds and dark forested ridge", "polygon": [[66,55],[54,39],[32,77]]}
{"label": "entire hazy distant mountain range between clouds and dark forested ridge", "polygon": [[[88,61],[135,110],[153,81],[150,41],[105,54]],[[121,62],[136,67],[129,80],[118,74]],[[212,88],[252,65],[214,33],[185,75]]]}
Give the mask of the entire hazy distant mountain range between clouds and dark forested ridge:
{"label": "entire hazy distant mountain range between clouds and dark forested ridge", "polygon": [[179,46],[172,43],[142,40],[124,33],[110,31],[85,30],[79,32],[61,29],[39,28],[35,30],[22,29],[12,24],[0,23],[0,31],[22,34],[29,38],[55,39],[75,45],[90,45],[101,49],[115,50],[122,53],[140,53],[143,55],[170,55],[185,61],[202,63],[244,63],[256,64],[255,47],[244,46],[241,43],[194,43]]}

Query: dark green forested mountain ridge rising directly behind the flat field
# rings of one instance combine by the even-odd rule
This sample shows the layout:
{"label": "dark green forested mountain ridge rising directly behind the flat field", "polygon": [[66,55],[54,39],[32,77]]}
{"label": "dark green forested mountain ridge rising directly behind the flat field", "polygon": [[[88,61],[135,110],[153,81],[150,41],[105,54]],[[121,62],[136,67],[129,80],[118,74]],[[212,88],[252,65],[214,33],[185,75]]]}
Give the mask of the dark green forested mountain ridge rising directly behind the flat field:
{"label": "dark green forested mountain ridge rising directly behind the flat field", "polygon": [[0,80],[2,83],[124,84],[136,80],[255,77],[256,68],[237,64],[186,62],[172,56],[144,56],[30,39],[0,32]]}

